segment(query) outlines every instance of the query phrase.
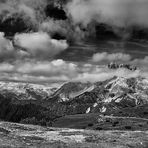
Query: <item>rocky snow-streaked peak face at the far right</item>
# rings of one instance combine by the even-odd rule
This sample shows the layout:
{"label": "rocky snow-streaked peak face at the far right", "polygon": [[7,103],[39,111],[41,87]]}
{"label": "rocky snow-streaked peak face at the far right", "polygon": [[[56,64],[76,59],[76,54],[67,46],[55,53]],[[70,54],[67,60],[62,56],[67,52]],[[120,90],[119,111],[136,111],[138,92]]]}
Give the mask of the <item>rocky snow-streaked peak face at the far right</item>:
{"label": "rocky snow-streaked peak face at the far right", "polygon": [[148,81],[144,78],[115,78],[105,85],[107,93],[98,101],[101,112],[148,105]]}

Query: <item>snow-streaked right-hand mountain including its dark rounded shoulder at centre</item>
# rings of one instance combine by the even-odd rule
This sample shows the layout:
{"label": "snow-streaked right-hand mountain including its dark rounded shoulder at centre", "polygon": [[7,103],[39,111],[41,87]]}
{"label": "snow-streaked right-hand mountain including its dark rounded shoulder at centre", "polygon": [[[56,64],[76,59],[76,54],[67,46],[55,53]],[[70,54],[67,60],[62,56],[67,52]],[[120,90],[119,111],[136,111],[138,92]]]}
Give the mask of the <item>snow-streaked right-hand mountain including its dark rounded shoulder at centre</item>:
{"label": "snow-streaked right-hand mountain including its dark rounded shoulder at centre", "polygon": [[[54,95],[59,99],[59,102],[62,95],[67,95],[67,98],[64,96],[66,99],[63,99],[62,102],[71,106],[79,104],[79,106],[84,105],[86,107],[89,104],[83,113],[107,113],[124,108],[138,108],[139,106],[148,105],[148,80],[142,77],[113,77],[104,82],[91,85],[83,84],[84,89],[80,87],[80,84],[67,83],[57,90]],[[73,91],[76,95],[71,95],[74,94]]]}

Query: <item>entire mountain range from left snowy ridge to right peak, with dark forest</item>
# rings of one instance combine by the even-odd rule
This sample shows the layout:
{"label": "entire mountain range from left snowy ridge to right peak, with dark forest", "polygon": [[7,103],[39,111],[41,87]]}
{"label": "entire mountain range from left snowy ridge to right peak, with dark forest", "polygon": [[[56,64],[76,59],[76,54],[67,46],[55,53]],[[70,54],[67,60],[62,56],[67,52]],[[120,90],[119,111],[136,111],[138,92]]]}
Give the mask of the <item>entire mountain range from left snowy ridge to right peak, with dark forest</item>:
{"label": "entire mountain range from left snowy ridge to right peak, with dark forest", "polygon": [[0,118],[13,122],[52,122],[63,116],[98,113],[148,118],[148,80],[113,77],[96,83],[48,85],[0,82]]}

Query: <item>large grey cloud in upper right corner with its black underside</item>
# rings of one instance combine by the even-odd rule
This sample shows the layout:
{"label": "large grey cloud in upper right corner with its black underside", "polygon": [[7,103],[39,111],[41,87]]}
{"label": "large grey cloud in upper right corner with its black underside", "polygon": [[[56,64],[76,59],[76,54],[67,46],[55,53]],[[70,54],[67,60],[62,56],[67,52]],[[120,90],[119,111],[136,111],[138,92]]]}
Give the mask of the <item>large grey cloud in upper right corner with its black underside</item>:
{"label": "large grey cloud in upper right corner with its black underside", "polygon": [[148,39],[147,9],[147,0],[72,0],[67,4],[74,24],[86,29],[93,24],[99,40]]}

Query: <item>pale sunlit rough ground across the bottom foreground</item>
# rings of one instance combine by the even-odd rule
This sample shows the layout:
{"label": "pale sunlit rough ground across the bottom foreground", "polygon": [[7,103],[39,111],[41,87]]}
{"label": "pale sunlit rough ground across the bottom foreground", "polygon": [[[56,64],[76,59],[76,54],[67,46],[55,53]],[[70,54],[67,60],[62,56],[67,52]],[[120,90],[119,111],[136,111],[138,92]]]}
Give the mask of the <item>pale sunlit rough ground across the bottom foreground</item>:
{"label": "pale sunlit rough ground across the bottom foreground", "polygon": [[1,147],[147,148],[148,131],[91,131],[0,122]]}

